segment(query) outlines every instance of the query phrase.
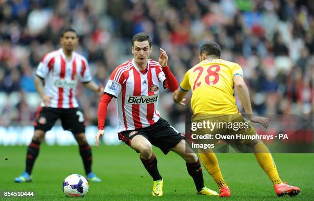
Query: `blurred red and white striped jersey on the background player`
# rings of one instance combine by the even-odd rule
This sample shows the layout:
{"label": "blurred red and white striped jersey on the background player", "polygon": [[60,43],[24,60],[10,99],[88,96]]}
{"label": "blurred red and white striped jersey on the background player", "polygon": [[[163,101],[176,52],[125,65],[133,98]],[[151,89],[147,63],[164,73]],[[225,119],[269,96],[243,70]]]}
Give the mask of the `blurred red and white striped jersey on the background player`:
{"label": "blurred red and white striped jersey on the background player", "polygon": [[[77,108],[75,90],[77,81],[92,80],[87,60],[73,52],[67,61],[62,49],[47,53],[38,65],[36,75],[45,79],[45,94],[52,96],[52,108]],[[42,102],[42,106],[45,106]]]}

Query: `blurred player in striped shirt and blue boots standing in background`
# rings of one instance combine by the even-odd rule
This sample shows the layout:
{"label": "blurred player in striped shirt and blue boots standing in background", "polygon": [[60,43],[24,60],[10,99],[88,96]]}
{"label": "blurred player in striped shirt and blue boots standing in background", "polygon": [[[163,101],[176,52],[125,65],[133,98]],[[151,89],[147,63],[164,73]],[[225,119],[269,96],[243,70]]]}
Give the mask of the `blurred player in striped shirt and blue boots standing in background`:
{"label": "blurred player in striped shirt and blue boots standing in background", "polygon": [[92,154],[85,136],[84,115],[78,109],[75,89],[78,79],[85,88],[100,95],[104,88],[92,81],[86,58],[73,51],[78,43],[75,30],[65,29],[60,42],[62,48],[46,54],[36,71],[35,86],[43,102],[42,107],[37,111],[34,136],[27,149],[26,170],[15,178],[15,182],[31,182],[30,174],[40,144],[45,138],[46,131],[50,130],[59,118],[62,127],[73,133],[80,147],[87,179],[94,182],[101,181],[91,171]]}

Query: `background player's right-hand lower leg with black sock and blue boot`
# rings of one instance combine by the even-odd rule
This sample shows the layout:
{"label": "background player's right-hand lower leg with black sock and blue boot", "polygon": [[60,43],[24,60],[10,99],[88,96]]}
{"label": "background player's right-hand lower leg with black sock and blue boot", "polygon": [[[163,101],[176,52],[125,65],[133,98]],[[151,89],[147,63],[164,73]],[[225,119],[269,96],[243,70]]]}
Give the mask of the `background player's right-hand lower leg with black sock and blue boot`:
{"label": "background player's right-hand lower leg with black sock and blue boot", "polygon": [[87,180],[90,182],[101,182],[102,180],[91,171],[92,153],[85,133],[74,134],[74,138],[78,144],[78,147],[80,148],[80,155],[83,160]]}

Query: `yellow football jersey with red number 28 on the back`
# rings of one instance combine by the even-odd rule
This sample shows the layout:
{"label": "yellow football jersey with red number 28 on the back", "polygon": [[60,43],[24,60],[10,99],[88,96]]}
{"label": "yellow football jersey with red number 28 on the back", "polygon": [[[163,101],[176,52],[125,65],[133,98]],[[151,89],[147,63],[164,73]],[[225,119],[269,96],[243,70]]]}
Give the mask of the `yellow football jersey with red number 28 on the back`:
{"label": "yellow football jersey with red number 28 on the back", "polygon": [[233,76],[243,76],[239,64],[223,59],[206,59],[188,70],[180,88],[192,90],[194,114],[238,114]]}

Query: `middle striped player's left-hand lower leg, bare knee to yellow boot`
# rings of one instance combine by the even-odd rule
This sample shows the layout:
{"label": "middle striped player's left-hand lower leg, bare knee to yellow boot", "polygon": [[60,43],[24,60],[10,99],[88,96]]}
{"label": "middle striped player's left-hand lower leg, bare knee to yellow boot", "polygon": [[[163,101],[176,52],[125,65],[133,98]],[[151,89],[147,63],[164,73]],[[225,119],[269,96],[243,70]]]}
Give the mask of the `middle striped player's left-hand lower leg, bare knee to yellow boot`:
{"label": "middle striped player's left-hand lower leg, bare knee to yellow boot", "polygon": [[153,178],[152,196],[162,196],[164,181],[159,174],[157,158],[152,152],[150,142],[144,136],[136,135],[131,140],[131,148],[140,153],[140,158],[145,169]]}

